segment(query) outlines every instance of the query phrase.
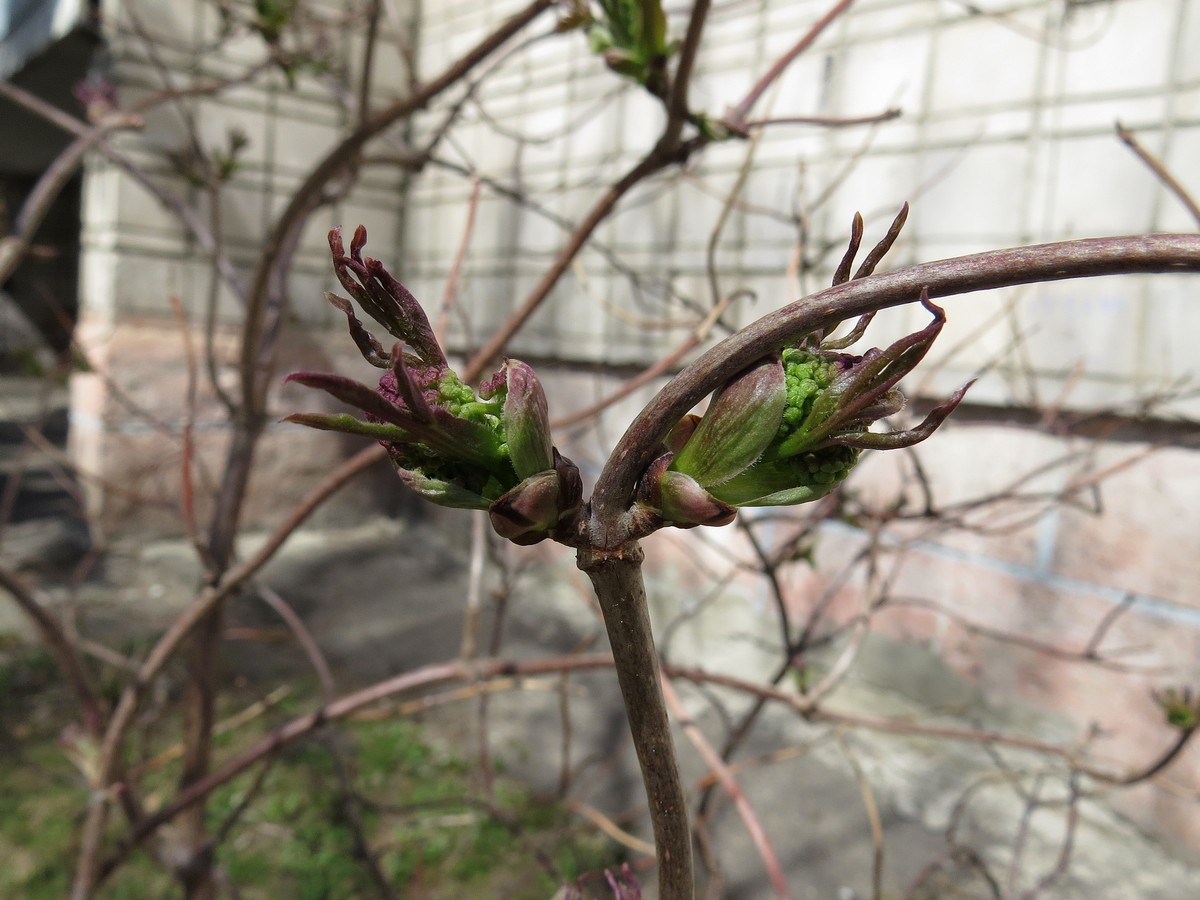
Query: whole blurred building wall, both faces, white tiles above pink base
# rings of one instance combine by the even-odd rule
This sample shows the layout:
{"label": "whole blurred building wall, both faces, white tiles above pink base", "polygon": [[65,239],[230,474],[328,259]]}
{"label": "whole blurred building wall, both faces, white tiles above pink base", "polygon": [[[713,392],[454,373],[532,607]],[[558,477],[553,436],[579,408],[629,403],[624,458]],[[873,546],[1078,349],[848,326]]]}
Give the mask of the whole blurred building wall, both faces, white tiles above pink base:
{"label": "whole blurred building wall, both faces, white tiles above pink base", "polygon": [[[121,5],[110,6],[116,79],[122,96],[136,98],[156,90],[158,76],[128,24],[120,24]],[[517,6],[424,4],[421,71],[439,71]],[[204,47],[215,28],[211,10],[197,4],[144,2],[138,8],[145,28],[184,36],[186,46]],[[826,8],[808,0],[718,4],[701,53],[696,106],[720,115]],[[672,23],[678,25],[674,18]],[[504,320],[560,250],[569,226],[649,149],[661,112],[588,54],[582,36],[552,36],[551,28],[547,18],[541,37],[494,65],[434,163],[415,180],[407,206],[396,169],[372,167],[355,193],[314,221],[290,280],[302,326],[294,330],[281,368],[358,371],[341,324],[320,299],[332,287],[323,244],[331,222],[365,222],[370,252],[394,263],[414,293],[436,307],[468,217],[472,182],[463,170],[478,175],[476,222],[458,298],[464,317],[449,319],[455,342],[468,348]],[[353,62],[354,36],[338,37]],[[713,304],[710,235],[743,169],[744,185],[712,251],[719,292],[754,295],[734,301],[726,316],[731,326],[828,283],[856,210],[866,215],[870,241],[902,200],[913,203],[889,265],[1030,241],[1194,230],[1198,224],[1184,208],[1117,140],[1114,124],[1134,130],[1200,193],[1196,47],[1198,0],[1031,0],[1003,7],[863,0],[788,70],[756,112],[846,118],[899,108],[900,118],[835,130],[781,125],[757,144],[709,148],[685,172],[640,186],[599,229],[596,242],[514,352],[572,364],[571,371],[546,370],[552,413],[565,415],[617,384],[611,376],[580,374],[578,365],[646,366],[683,341]],[[181,74],[186,82],[229,71],[244,49],[169,50],[167,61],[188,73]],[[392,54],[391,61],[380,65],[398,73],[396,48],[389,44],[384,53]],[[380,98],[401,92],[400,76],[392,83],[382,78],[377,89]],[[199,100],[190,108],[208,144],[222,144],[232,126],[251,139],[246,166],[234,176],[236,190],[222,210],[228,239],[246,248],[235,250],[234,259],[247,263],[306,164],[348,122],[308,79],[295,91],[269,79],[266,86]],[[163,151],[180,145],[178,115],[163,110],[151,116],[143,132],[122,137],[121,145],[173,191],[197,200],[163,161]],[[430,112],[418,137],[440,121],[439,112]],[[522,202],[514,202],[512,193]],[[86,469],[122,478],[132,473],[139,490],[158,504],[151,506],[161,515],[156,526],[178,528],[173,492],[185,373],[179,328],[166,301],[179,295],[198,316],[209,283],[206,264],[178,222],[104,162],[89,172],[84,215],[82,335],[114,383],[158,422],[148,425],[132,413],[103,379],[80,378],[73,439]],[[1080,490],[1073,493],[1074,505],[1055,511],[1044,510],[1037,497],[1019,500],[1012,529],[949,534],[918,521],[890,524],[882,541],[888,559],[902,563],[895,592],[942,608],[893,604],[874,617],[875,628],[932,647],[988,690],[1054,709],[1080,732],[1091,724],[1111,730],[1117,737],[1102,749],[1128,764],[1170,740],[1150,690],[1198,678],[1200,454],[1194,425],[1164,422],[1195,419],[1200,401],[1194,391],[1148,408],[1138,400],[1176,394],[1180,379],[1196,377],[1196,289],[1194,277],[1121,278],[952,301],[941,343],[944,366],[930,366],[914,391],[938,396],[980,368],[986,372],[972,391],[971,415],[960,416],[920,451],[937,503],[947,508],[1003,490],[1022,473],[1076,452],[1081,460],[1049,466],[1026,488]],[[236,319],[228,295],[221,308]],[[882,342],[920,320],[917,311],[883,316],[874,340]],[[218,342],[218,348],[227,346]],[[234,356],[218,356],[222,373],[232,376]],[[281,414],[299,397],[283,398]],[[1100,403],[1117,404],[1130,416],[1117,434],[1122,443],[1100,446],[1094,430],[1092,437],[1064,437],[1043,427],[1046,408],[1081,412]],[[595,432],[564,436],[562,444],[586,474],[595,473],[635,406],[614,408]],[[224,440],[220,421],[212,398],[202,397],[198,440],[214,466]],[[258,511],[252,523],[278,521],[288,502],[348,450],[344,442],[299,430],[276,431],[271,439],[277,443],[262,455],[265,468],[254,482]],[[1159,444],[1165,450],[1122,464]],[[905,509],[919,509],[907,457],[884,457],[863,468],[847,490],[884,511],[907,491]],[[1093,490],[1087,480],[1096,473],[1111,478]],[[125,500],[113,509],[131,516],[146,510]],[[722,552],[746,552],[732,529],[706,536]],[[692,533],[648,542],[662,574],[655,583],[666,595],[659,602],[668,611],[685,607],[710,583],[702,566],[673,568],[660,548],[677,539],[697,540]],[[816,548],[821,566],[812,572],[798,565],[786,581],[798,616],[836,583],[839,565],[863,540],[860,529],[824,527]],[[739,584],[739,613],[769,619],[764,584]],[[834,620],[862,612],[864,596],[872,600],[859,578],[850,578],[830,607]],[[1010,642],[964,624],[1079,650],[1118,608],[1122,614],[1104,648],[1132,647],[1147,670],[1118,679],[1109,670],[1055,660],[1027,647],[1013,649]],[[716,631],[722,641],[738,635],[725,623]],[[709,642],[697,652],[739,665],[733,644],[716,653]],[[1172,769],[1171,784],[1139,788],[1129,812],[1200,846],[1190,799],[1200,788],[1200,757],[1189,752]]]}

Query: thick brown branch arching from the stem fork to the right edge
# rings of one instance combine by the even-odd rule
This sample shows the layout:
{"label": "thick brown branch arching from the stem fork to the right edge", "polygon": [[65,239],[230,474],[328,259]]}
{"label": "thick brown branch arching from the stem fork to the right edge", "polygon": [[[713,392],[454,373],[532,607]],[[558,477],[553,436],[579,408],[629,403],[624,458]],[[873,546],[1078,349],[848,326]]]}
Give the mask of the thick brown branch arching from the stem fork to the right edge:
{"label": "thick brown branch arching from the stem fork to the right edge", "polygon": [[1154,234],[1038,244],[899,269],[817,292],[764,316],[704,353],[672,379],[629,426],[592,497],[589,538],[617,547],[634,533],[626,510],[637,479],[674,422],[769,350],[872,310],[930,298],[1098,275],[1200,272],[1200,235]]}

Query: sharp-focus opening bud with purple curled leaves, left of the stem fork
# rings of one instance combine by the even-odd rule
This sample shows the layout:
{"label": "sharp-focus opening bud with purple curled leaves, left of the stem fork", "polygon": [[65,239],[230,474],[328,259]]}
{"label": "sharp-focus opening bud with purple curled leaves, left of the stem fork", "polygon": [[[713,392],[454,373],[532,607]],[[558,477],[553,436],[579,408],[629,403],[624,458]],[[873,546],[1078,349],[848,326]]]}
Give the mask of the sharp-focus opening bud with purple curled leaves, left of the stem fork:
{"label": "sharp-focus opening bud with purple curled leaves, left of the stem fork", "polygon": [[322,372],[288,377],[358,407],[352,415],[298,413],[287,421],[361,434],[386,449],[401,480],[443,506],[485,509],[493,528],[516,544],[535,544],[569,529],[582,508],[578,469],[551,443],[546,394],[518,360],[476,391],[446,364],[420,304],[374,259],[364,259],[359,228],[346,254],[340,229],[330,232],[334,266],[359,305],[398,340],[383,348],[350,302],[328,299],[347,317],[362,356],[385,370],[378,388]]}

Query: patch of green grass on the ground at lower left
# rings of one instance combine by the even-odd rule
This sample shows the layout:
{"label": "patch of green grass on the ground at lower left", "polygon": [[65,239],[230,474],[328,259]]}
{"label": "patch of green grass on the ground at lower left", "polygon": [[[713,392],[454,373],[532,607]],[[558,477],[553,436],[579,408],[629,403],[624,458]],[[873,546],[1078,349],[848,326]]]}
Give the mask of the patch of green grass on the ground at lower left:
{"label": "patch of green grass on the ground at lower left", "polygon": [[[0,666],[0,898],[61,898],[70,887],[77,829],[88,802],[85,781],[58,738],[73,706],[53,670],[37,656]],[[53,684],[53,683],[52,683]],[[263,691],[265,694],[265,691]],[[226,714],[247,704],[230,702]],[[289,698],[271,714],[218,740],[217,760],[247,746],[269,727],[310,707]],[[168,712],[148,733],[149,757],[179,734]],[[341,803],[329,738],[286,749],[217,851],[217,863],[246,900],[337,900],[373,896],[367,868]],[[610,841],[557,804],[498,778],[485,803],[470,764],[437,736],[409,720],[348,725],[364,832],[378,864],[402,896],[439,900],[544,900],[565,881],[619,862]],[[139,757],[140,758],[140,757]],[[148,774],[139,797],[166,802],[178,762]],[[251,790],[247,773],[214,793],[209,821],[220,826]],[[125,822],[113,816],[112,844]],[[558,876],[539,863],[553,860]],[[106,882],[100,898],[170,898],[179,888],[149,856],[138,853]]]}

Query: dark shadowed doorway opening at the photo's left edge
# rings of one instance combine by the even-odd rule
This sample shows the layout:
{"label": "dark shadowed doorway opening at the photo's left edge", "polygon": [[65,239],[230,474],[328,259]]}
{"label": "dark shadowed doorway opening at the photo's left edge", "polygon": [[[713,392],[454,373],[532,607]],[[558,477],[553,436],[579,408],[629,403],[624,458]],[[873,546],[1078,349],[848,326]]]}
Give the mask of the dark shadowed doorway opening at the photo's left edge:
{"label": "dark shadowed doorway opening at the photo's left edge", "polygon": [[[10,46],[13,35],[2,37],[13,50],[5,54],[11,62],[20,48]],[[97,46],[91,31],[77,28],[38,44],[28,59],[17,53],[19,67],[7,80],[82,118],[76,86],[88,78]],[[12,233],[25,200],[73,136],[7,100],[0,100],[0,227]],[[6,565],[52,577],[68,577],[89,547],[79,486],[64,454],[79,308],[82,184],[74,173],[61,185],[29,252],[0,284],[0,552]]]}

